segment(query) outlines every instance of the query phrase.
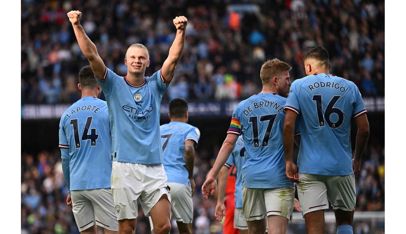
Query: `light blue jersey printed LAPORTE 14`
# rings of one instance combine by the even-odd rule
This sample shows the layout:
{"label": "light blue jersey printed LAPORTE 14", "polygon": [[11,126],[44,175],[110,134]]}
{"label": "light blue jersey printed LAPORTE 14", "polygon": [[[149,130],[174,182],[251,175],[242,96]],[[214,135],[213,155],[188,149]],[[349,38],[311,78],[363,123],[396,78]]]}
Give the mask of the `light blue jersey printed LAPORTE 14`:
{"label": "light blue jersey printed LAPORTE 14", "polygon": [[108,109],[105,101],[83,97],[59,123],[59,148],[69,160],[70,190],[110,188],[112,161]]}

